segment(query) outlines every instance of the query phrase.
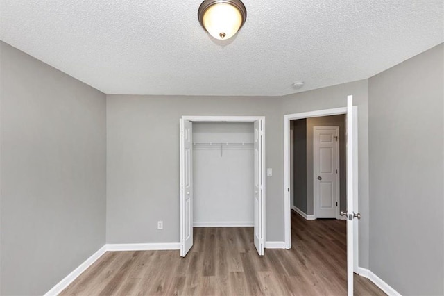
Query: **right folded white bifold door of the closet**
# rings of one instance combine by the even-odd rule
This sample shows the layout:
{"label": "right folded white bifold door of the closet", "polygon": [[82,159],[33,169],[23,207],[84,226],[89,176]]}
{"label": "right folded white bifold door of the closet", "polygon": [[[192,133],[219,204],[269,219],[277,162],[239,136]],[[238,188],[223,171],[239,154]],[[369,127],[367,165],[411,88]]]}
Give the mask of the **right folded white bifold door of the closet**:
{"label": "right folded white bifold door of the closet", "polygon": [[264,121],[255,121],[254,135],[255,149],[255,202],[254,202],[254,224],[255,224],[255,247],[259,256],[264,256],[265,238],[265,213],[264,213]]}

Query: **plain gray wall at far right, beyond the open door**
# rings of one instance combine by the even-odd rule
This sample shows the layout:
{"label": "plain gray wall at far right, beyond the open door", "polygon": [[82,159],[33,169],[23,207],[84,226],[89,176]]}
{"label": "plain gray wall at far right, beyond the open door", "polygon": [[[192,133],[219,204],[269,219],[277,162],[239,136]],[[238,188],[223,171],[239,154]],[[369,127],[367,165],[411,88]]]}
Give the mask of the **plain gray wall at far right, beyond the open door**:
{"label": "plain gray wall at far right, beyond the open door", "polygon": [[402,295],[444,294],[443,56],[368,82],[370,270]]}

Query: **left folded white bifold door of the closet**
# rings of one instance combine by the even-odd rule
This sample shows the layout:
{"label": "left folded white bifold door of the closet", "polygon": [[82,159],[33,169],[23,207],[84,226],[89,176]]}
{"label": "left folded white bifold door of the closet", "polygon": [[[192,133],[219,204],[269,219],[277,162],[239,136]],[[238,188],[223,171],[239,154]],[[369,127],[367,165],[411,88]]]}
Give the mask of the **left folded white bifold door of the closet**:
{"label": "left folded white bifold door of the closet", "polygon": [[180,256],[193,247],[193,124],[180,119]]}

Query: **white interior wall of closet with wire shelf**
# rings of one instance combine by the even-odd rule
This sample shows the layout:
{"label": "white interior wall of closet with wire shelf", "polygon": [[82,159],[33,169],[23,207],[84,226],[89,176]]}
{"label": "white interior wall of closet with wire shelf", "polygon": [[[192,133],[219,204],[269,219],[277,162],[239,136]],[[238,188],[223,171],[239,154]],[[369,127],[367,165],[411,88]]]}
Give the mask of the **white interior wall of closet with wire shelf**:
{"label": "white interior wall of closet with wire shelf", "polygon": [[194,227],[253,226],[253,123],[194,122]]}

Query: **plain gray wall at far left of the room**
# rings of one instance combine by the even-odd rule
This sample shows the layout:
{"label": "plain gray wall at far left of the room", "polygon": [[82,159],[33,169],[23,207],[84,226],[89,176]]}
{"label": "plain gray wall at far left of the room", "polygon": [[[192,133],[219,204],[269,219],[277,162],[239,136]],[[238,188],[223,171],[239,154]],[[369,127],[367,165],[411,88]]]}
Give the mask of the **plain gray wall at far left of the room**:
{"label": "plain gray wall at far left of the room", "polygon": [[105,94],[0,42],[2,295],[42,295],[105,244]]}

